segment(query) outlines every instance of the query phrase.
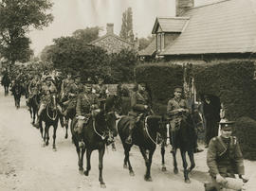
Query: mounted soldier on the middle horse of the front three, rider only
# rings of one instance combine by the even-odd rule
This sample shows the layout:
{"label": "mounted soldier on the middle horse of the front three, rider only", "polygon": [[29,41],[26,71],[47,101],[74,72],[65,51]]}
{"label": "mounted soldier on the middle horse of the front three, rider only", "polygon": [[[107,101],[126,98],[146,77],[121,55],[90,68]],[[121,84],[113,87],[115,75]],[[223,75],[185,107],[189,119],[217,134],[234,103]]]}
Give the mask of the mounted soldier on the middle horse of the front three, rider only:
{"label": "mounted soldier on the middle horse of the front three, rider only", "polygon": [[129,126],[129,135],[125,141],[127,144],[132,144],[132,134],[136,123],[144,114],[149,113],[150,105],[151,99],[148,92],[146,91],[146,84],[136,84],[134,88],[134,93],[131,96],[132,111],[129,113],[129,115],[131,116],[131,121]]}

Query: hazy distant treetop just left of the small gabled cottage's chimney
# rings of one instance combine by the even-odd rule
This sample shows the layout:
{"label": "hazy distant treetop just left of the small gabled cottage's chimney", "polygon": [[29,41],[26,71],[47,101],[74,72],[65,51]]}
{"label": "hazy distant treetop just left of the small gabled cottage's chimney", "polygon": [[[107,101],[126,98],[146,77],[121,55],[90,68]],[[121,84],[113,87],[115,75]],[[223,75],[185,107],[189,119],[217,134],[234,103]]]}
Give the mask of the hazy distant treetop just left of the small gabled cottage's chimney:
{"label": "hazy distant treetop just left of the small gabled cottage's chimney", "polygon": [[73,32],[73,37],[75,39],[80,39],[85,43],[91,43],[92,41],[99,38],[100,30],[102,30],[102,28],[99,26],[78,29],[75,32]]}

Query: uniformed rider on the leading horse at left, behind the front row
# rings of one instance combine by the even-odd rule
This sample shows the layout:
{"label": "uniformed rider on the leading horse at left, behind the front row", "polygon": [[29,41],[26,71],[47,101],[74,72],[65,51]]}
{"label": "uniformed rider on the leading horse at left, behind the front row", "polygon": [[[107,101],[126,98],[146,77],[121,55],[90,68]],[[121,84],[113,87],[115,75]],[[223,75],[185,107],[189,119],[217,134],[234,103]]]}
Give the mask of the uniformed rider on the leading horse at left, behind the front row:
{"label": "uniformed rider on the leading horse at left, behind the front row", "polygon": [[[39,122],[41,120],[41,113],[46,109],[46,106],[50,104],[51,99],[53,96],[56,96],[57,94],[57,89],[55,85],[52,82],[52,78],[50,76],[46,76],[46,85],[42,86],[42,98],[41,98],[41,103],[38,111],[38,118],[35,123],[35,127],[39,128]],[[64,127],[64,118],[63,118],[63,112],[62,108],[59,104],[56,103],[57,110],[59,111],[61,117],[61,125]]]}

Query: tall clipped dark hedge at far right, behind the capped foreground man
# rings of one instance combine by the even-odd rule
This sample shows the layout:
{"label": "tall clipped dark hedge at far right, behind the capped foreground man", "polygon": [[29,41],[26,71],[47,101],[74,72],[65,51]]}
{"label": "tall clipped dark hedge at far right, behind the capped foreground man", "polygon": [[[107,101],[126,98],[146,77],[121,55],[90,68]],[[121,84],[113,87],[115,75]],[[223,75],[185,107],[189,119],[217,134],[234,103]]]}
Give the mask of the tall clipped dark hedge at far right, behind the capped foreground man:
{"label": "tall clipped dark hedge at far right, behind the capped foreground man", "polygon": [[256,89],[253,61],[229,61],[193,68],[199,95],[218,96],[230,120],[242,116],[256,119]]}

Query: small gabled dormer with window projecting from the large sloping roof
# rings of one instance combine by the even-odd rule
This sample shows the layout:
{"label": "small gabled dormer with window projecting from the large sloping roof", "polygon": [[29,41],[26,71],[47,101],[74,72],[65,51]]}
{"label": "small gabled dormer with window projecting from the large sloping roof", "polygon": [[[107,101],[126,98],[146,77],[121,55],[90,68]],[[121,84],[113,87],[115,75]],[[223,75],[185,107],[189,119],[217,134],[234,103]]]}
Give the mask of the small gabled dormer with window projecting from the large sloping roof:
{"label": "small gabled dormer with window projecting from the large sloping roof", "polygon": [[157,53],[164,51],[167,45],[174,43],[189,20],[189,17],[156,17],[152,34],[155,35]]}

